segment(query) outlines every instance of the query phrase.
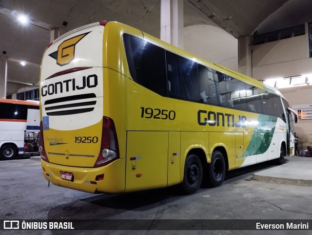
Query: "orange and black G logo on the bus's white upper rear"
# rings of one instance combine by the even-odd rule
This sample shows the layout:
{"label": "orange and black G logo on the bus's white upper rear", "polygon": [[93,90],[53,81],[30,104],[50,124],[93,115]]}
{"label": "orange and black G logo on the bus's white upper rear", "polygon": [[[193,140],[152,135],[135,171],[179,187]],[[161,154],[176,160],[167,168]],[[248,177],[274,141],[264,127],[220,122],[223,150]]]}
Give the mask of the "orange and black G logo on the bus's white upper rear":
{"label": "orange and black G logo on the bus's white upper rear", "polygon": [[57,64],[60,66],[71,63],[71,61],[75,58],[76,44],[88,33],[80,34],[76,37],[65,40],[64,42],[60,43],[58,50],[51,53],[49,56],[57,60]]}

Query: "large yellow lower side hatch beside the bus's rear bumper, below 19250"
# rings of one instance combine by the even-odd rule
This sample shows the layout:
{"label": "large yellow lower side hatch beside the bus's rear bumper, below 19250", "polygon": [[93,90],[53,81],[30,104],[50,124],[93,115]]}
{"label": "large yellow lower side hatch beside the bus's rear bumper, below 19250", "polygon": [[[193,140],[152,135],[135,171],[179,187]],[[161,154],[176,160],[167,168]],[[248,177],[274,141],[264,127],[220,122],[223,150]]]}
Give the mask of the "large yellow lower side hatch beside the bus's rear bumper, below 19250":
{"label": "large yellow lower side hatch beside the bus's rear bumper, below 19250", "polygon": [[126,192],[166,187],[167,174],[168,131],[128,131]]}

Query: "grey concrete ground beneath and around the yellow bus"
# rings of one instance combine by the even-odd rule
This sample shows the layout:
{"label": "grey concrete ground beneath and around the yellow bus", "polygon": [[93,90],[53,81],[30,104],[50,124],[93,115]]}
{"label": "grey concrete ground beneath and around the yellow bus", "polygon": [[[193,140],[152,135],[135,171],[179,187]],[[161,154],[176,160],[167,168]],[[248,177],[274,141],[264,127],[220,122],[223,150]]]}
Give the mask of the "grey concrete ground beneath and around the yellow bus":
{"label": "grey concrete ground beneath and around the yellow bus", "polygon": [[[92,194],[53,184],[48,187],[48,182],[42,176],[40,161],[31,159],[0,161],[0,219],[87,219],[91,222],[83,231],[17,230],[0,231],[1,235],[311,234],[311,228],[307,231],[256,231],[246,226],[254,221],[263,223],[274,220],[308,221],[312,224],[312,187],[302,186],[302,182],[306,185],[311,183],[312,174],[309,176],[309,172],[312,158],[287,157],[282,166],[267,162],[231,171],[221,187],[201,188],[188,196],[180,195],[176,188]],[[280,181],[273,182],[277,179]],[[120,220],[124,222],[120,223]],[[190,220],[195,220],[194,226]],[[212,220],[222,223],[219,230],[207,229],[206,224]],[[107,221],[112,227],[110,231],[106,225],[103,226]],[[136,227],[136,223],[140,225],[142,221],[147,224],[146,230]],[[157,223],[168,225],[166,223],[170,221],[177,223],[170,224],[171,230],[153,230]],[[245,225],[241,230],[226,229],[235,221]],[[98,226],[102,226],[102,229]],[[131,229],[122,230],[122,226],[130,226]]]}

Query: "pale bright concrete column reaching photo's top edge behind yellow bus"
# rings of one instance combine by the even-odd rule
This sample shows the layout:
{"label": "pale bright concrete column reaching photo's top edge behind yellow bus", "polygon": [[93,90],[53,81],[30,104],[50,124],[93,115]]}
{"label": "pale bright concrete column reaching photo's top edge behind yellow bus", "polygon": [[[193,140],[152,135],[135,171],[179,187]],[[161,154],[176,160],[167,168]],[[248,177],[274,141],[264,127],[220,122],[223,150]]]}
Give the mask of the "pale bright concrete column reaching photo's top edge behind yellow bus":
{"label": "pale bright concrete column reaching photo's top edge behind yellow bus", "polygon": [[183,49],[183,0],[161,0],[160,39]]}

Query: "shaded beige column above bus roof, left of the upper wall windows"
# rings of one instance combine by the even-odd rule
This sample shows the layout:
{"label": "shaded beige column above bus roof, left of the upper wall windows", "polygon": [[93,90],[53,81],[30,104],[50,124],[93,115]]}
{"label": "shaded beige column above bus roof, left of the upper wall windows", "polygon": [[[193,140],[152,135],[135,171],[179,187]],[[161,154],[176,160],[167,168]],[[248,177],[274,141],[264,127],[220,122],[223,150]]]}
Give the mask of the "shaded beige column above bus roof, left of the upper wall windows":
{"label": "shaded beige column above bus roof, left of the upper wall windows", "polygon": [[240,73],[250,77],[253,76],[251,36],[238,39],[238,69]]}

